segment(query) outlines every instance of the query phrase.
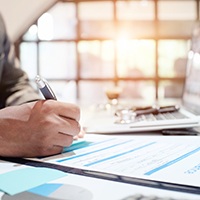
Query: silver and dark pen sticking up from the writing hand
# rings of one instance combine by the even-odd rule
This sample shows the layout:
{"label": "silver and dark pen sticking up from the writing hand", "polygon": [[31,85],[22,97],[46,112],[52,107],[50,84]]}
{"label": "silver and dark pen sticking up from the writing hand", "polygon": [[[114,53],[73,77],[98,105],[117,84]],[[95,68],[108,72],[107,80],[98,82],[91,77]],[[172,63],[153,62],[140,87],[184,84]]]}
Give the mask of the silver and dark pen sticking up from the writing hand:
{"label": "silver and dark pen sticking up from the writing hand", "polygon": [[45,99],[57,100],[53,90],[51,89],[51,87],[49,86],[48,82],[45,79],[43,79],[41,76],[37,75],[35,77],[35,82]]}

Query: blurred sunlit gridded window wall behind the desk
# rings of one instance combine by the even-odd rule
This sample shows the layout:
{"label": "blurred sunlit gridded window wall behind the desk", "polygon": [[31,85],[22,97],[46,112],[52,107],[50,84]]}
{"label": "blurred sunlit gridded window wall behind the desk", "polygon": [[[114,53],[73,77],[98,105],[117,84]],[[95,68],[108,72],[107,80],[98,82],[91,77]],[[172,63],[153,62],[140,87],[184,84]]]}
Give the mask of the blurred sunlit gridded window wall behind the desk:
{"label": "blurred sunlit gridded window wall behind the desk", "polygon": [[[10,39],[32,83],[58,99],[180,98],[199,0],[0,0]],[[34,87],[35,84],[33,83]]]}

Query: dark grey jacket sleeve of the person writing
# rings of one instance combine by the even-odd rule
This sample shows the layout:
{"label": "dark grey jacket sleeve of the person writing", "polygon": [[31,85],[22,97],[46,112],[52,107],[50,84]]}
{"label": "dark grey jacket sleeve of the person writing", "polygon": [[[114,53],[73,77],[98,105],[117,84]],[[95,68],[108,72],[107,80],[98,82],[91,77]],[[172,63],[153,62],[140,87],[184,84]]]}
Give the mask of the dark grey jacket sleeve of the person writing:
{"label": "dark grey jacket sleeve of the person writing", "polygon": [[0,50],[4,54],[0,74],[0,107],[20,105],[41,99],[30,85],[26,73],[18,65],[1,16],[0,34]]}

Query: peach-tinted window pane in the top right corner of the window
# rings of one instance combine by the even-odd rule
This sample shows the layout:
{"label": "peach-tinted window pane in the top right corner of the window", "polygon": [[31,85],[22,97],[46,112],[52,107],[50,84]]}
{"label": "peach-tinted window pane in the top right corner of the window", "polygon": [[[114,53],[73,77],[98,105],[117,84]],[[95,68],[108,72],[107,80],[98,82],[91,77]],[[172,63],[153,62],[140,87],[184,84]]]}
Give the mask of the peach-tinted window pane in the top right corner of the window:
{"label": "peach-tinted window pane in the top right corner of the window", "polygon": [[195,0],[159,0],[158,19],[160,20],[195,20]]}

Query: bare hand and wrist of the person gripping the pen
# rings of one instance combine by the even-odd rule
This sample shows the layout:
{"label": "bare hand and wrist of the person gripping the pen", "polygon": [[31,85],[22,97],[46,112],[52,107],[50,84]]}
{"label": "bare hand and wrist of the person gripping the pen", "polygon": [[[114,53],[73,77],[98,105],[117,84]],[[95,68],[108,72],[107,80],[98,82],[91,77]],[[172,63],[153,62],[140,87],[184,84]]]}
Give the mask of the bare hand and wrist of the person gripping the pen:
{"label": "bare hand and wrist of the person gripping the pen", "polygon": [[0,110],[0,156],[58,154],[80,133],[80,109],[41,100]]}

